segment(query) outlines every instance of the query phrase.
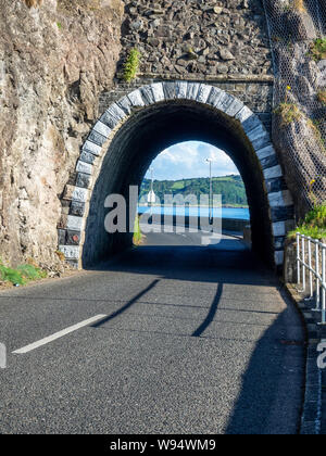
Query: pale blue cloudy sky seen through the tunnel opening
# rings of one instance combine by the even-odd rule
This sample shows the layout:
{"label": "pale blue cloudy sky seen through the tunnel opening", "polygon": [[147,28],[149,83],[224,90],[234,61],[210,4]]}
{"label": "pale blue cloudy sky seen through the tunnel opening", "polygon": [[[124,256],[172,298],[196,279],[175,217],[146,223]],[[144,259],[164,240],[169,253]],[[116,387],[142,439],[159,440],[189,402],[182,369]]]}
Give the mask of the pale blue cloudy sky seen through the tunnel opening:
{"label": "pale blue cloudy sky seen through the tunnel opening", "polygon": [[[212,175],[227,176],[239,174],[236,165],[222,150],[205,142],[188,141],[175,144],[156,156],[152,162],[154,179],[179,180],[190,177],[209,177],[210,168],[205,162],[213,159]],[[150,178],[150,173],[146,175]]]}

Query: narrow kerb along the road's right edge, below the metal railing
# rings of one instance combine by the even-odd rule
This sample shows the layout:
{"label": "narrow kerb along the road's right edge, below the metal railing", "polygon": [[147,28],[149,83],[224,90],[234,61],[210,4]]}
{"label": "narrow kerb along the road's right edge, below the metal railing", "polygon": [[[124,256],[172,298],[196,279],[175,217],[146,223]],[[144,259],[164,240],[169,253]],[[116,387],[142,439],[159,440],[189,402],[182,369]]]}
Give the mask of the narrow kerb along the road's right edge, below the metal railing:
{"label": "narrow kerb along the road's right edge, below the metal railing", "polygon": [[316,316],[292,283],[285,289],[297,305],[306,328],[305,391],[301,417],[301,435],[319,435],[322,429],[322,370],[317,367],[317,345],[322,341],[322,330]]}

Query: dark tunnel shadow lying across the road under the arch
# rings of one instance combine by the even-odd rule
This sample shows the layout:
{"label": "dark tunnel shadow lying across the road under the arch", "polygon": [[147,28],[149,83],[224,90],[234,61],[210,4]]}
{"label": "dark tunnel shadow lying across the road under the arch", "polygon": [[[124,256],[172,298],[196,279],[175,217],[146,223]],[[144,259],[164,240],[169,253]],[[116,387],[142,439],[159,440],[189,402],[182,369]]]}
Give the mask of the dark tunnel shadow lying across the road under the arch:
{"label": "dark tunnel shadow lying across the road under the arch", "polygon": [[131,248],[88,270],[153,275],[196,282],[279,284],[274,270],[254,252],[243,249],[241,241],[226,241],[218,246]]}

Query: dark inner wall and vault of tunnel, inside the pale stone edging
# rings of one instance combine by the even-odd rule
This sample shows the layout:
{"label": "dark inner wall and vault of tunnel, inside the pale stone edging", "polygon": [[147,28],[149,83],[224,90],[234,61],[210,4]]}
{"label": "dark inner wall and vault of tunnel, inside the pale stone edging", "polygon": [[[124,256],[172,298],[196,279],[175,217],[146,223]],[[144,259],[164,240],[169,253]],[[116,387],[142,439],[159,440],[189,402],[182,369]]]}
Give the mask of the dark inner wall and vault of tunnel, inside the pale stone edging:
{"label": "dark inner wall and vault of tunnel, inside the pale stone edging", "polygon": [[[113,136],[96,178],[89,202],[83,266],[106,259],[133,244],[133,233],[108,233],[104,201],[122,194],[128,203],[129,186],[140,187],[151,162],[163,150],[185,141],[202,141],[224,150],[237,166],[250,207],[252,249],[274,266],[269,205],[264,175],[241,124],[209,105],[168,101],[137,110]],[[127,211],[128,213],[128,211]]]}

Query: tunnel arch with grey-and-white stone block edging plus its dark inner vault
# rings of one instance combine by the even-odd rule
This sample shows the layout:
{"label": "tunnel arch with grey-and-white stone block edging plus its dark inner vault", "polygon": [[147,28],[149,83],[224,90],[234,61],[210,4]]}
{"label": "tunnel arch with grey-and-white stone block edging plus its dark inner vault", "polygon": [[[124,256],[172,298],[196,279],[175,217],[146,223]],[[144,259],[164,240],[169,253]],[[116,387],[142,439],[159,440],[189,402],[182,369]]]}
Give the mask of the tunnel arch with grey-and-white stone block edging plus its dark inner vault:
{"label": "tunnel arch with grey-and-white stone block edging plus its dark inner vault", "polygon": [[210,142],[229,154],[246,185],[253,249],[269,265],[283,265],[293,205],[269,135],[237,98],[187,81],[134,90],[96,123],[63,195],[59,249],[66,261],[88,266],[130,241],[105,232],[106,195],[127,195],[162,150],[186,140]]}

